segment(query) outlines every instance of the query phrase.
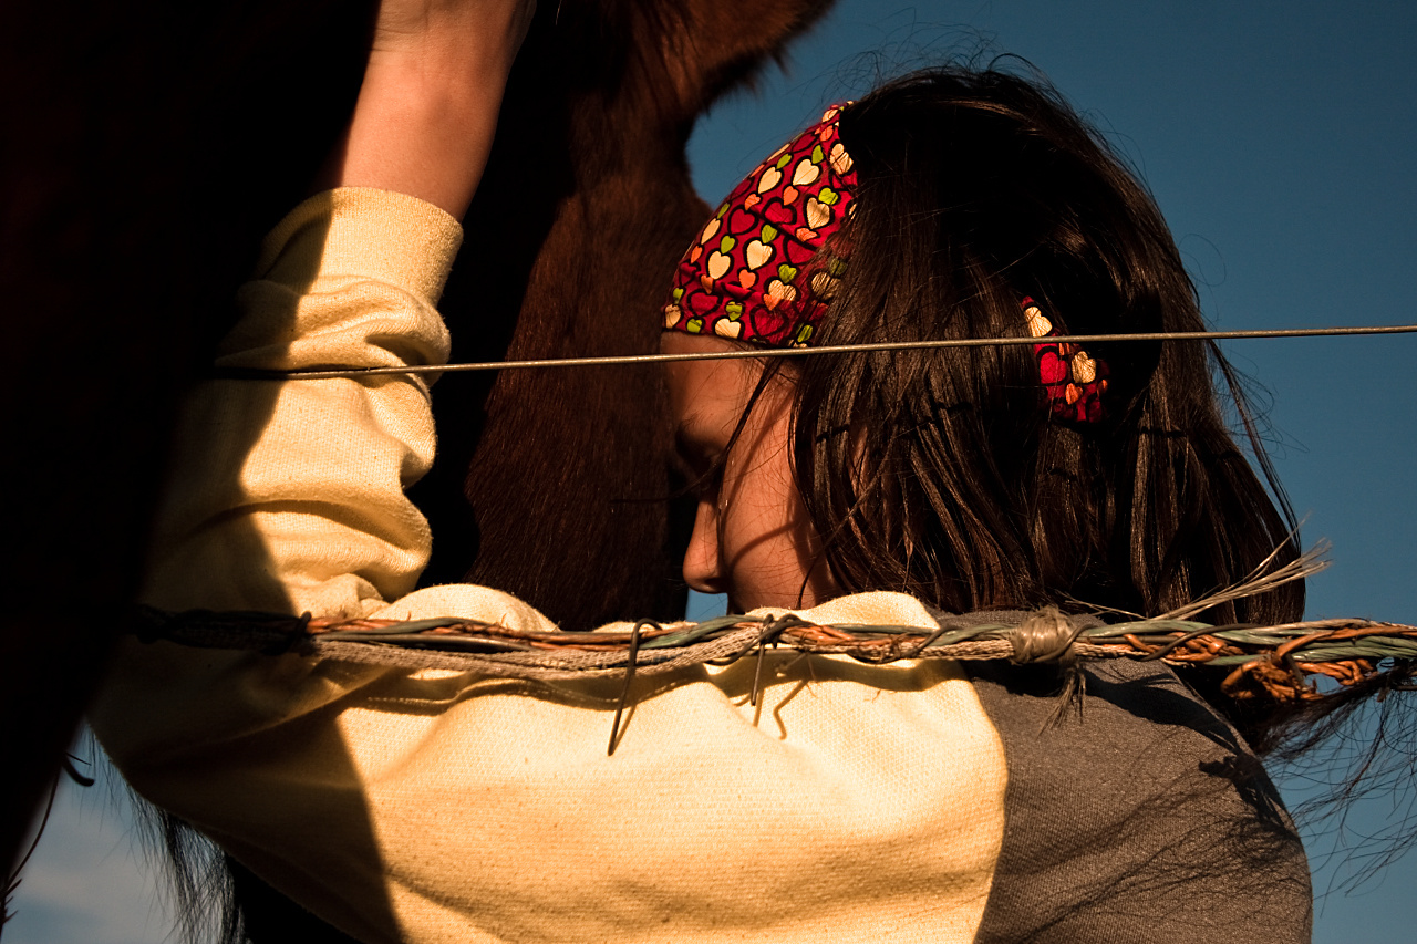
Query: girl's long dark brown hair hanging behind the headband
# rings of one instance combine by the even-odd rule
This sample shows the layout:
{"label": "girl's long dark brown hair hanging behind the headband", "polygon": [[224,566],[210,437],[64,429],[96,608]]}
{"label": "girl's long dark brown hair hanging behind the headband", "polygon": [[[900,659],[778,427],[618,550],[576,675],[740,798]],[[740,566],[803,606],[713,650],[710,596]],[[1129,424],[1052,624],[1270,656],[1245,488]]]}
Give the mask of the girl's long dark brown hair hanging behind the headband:
{"label": "girl's long dark brown hair hanging behind the headband", "polygon": [[[942,68],[849,106],[849,262],[815,343],[1203,330],[1151,194],[1039,81]],[[1030,346],[803,359],[794,465],[837,583],[964,612],[1067,598],[1155,615],[1298,556],[1212,343],[1090,346],[1107,418],[1056,418]],[[1230,387],[1268,492],[1227,429]],[[1302,583],[1214,622],[1301,617]]]}

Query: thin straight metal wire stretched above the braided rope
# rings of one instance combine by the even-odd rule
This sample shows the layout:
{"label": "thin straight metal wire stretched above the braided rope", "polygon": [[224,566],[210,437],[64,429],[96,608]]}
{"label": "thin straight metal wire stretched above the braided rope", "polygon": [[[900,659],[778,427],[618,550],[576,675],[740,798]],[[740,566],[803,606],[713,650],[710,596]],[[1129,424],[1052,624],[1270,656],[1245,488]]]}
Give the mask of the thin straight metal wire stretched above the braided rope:
{"label": "thin straight metal wire stretched above the braided rope", "polygon": [[[1250,340],[1255,337],[1333,337],[1342,335],[1413,335],[1417,325],[1369,325],[1355,327],[1282,327],[1233,332],[1138,332],[1132,335],[1063,335],[1058,340],[1073,344],[1095,342],[1156,340]],[[393,374],[453,374],[482,370],[529,370],[540,367],[604,367],[608,364],[667,364],[683,360],[743,360],[748,357],[812,357],[873,350],[934,350],[939,347],[1006,347],[1037,344],[1036,337],[942,337],[921,342],[879,342],[871,344],[833,344],[829,347],[751,347],[744,350],[696,352],[684,354],[615,354],[609,357],[550,357],[543,360],[492,360],[470,364],[410,364],[407,367],[344,367],[329,370],[255,370],[224,367],[215,377],[228,380],[332,380],[336,377],[385,377]]]}

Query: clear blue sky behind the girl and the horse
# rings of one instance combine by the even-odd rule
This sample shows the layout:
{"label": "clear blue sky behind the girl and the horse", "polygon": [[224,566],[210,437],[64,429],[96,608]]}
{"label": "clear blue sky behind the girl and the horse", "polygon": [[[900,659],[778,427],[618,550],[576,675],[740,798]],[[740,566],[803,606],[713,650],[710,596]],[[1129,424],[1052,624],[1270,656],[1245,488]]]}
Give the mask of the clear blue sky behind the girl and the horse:
{"label": "clear blue sky behind the girl and the horse", "polygon": [[[1172,225],[1217,327],[1417,322],[1417,6],[1212,0],[843,0],[789,72],[707,116],[691,145],[710,201],[829,101],[952,52],[1027,58],[1129,156]],[[879,55],[862,57],[876,51]],[[1271,451],[1304,540],[1332,541],[1309,615],[1417,622],[1417,337],[1234,342],[1268,395]],[[711,605],[707,604],[707,605]],[[1302,784],[1281,775],[1291,797]],[[166,918],[99,794],[65,790],[7,944],[160,941]],[[1417,785],[1397,798],[1410,802]],[[1401,807],[1399,805],[1399,812]],[[1360,804],[1346,843],[1393,815]],[[1315,822],[1311,832],[1332,829]],[[1360,859],[1311,842],[1316,890]],[[1325,865],[1326,862],[1326,865]],[[1410,934],[1417,855],[1319,901],[1315,940]]]}

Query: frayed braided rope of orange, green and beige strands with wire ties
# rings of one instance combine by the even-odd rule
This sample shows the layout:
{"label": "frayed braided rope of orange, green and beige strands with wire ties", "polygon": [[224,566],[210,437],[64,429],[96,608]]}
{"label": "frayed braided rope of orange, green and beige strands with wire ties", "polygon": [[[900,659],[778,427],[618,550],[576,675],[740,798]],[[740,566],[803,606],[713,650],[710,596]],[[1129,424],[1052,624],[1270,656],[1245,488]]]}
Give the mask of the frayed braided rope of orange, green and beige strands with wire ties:
{"label": "frayed braided rope of orange, green and beige strands with wire ties", "polygon": [[455,669],[546,682],[663,675],[747,656],[768,646],[845,655],[862,662],[955,659],[1057,663],[1071,659],[1162,661],[1229,668],[1233,697],[1280,702],[1322,697],[1315,676],[1352,686],[1394,663],[1417,668],[1417,626],[1318,619],[1277,626],[1213,626],[1155,618],[1102,624],[1047,607],[1012,624],[978,617],[939,626],[815,624],[798,617],[720,617],[704,622],[638,624],[635,632],[527,632],[468,619],[310,619],[254,612],[145,609],[145,639],[183,645],[295,652],[371,666]]}

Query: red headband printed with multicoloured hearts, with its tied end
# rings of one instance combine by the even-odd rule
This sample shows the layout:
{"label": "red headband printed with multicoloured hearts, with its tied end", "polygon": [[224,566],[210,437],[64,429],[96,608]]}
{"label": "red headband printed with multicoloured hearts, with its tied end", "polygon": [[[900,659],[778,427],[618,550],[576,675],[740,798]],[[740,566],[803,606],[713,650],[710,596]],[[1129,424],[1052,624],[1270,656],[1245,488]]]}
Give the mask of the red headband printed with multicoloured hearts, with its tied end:
{"label": "red headband printed with multicoloured hearts, with its tied end", "polygon": [[[849,102],[847,102],[849,103]],[[846,247],[818,254],[852,214],[856,172],[833,105],[734,187],[674,271],[665,330],[717,335],[771,347],[805,347],[826,313]],[[1033,337],[1063,332],[1024,298]],[[1107,364],[1064,340],[1033,346],[1053,414],[1102,418]]]}

